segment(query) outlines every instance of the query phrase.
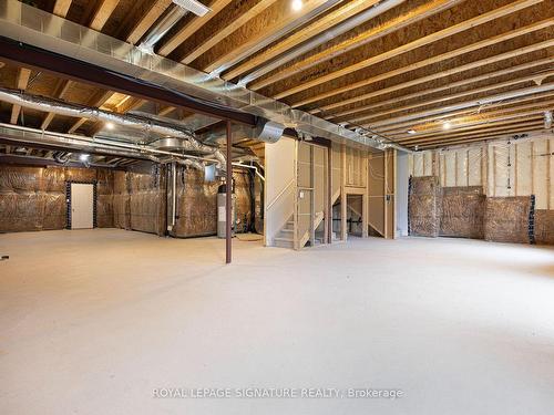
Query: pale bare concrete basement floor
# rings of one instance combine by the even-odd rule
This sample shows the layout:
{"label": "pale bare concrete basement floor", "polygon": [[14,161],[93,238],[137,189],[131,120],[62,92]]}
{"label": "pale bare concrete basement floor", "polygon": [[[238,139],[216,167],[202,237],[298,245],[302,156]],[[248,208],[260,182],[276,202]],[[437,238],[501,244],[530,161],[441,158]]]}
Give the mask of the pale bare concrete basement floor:
{"label": "pale bare concrete basement floor", "polygon": [[[554,249],[0,236],[2,414],[552,414]],[[163,387],[398,400],[155,398]]]}

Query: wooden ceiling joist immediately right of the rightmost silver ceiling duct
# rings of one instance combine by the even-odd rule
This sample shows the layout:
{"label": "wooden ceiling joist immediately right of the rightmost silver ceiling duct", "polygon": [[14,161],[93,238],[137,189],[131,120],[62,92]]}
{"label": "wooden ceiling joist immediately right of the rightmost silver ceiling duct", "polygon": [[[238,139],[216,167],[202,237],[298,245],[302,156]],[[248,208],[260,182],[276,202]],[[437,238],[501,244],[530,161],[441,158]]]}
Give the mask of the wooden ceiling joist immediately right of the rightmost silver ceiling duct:
{"label": "wooden ceiling joist immediately right of the rightmost silver ceiling duct", "polygon": [[281,81],[286,77],[293,76],[305,70],[314,68],[318,64],[327,62],[341,54],[348,53],[356,48],[362,46],[369,42],[372,42],[379,38],[382,38],[389,33],[408,27],[411,23],[418,22],[422,19],[429,18],[442,10],[453,7],[464,0],[434,0],[425,3],[417,9],[410,10],[406,13],[401,13],[398,18],[387,21],[383,24],[365,31],[352,39],[346,40],[330,48],[326,48],[324,51],[307,56],[295,64],[280,69],[278,72],[271,74],[270,76],[264,77],[261,80],[248,83],[248,87],[253,91],[258,91],[265,86],[273,83]]}

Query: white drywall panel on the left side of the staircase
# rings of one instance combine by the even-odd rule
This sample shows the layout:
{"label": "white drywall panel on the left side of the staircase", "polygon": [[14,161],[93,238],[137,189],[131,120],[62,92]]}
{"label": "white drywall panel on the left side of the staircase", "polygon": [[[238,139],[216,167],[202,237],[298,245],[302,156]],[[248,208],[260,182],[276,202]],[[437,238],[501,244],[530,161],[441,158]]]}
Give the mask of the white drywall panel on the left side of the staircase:
{"label": "white drywall panel on the left side of the staircase", "polygon": [[275,236],[294,211],[296,143],[283,137],[275,144],[266,144],[265,152],[265,245],[273,246]]}

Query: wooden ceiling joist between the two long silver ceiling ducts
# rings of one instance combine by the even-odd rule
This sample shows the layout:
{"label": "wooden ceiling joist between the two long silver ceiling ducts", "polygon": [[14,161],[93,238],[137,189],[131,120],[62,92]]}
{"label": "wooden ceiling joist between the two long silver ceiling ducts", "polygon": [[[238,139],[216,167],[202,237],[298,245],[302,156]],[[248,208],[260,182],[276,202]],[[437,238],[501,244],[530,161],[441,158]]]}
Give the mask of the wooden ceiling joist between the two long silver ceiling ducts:
{"label": "wooden ceiling joist between the two long silver ceiling ducts", "polygon": [[373,7],[373,4],[377,2],[378,0],[355,0],[350,3],[345,4],[332,13],[327,14],[320,19],[316,19],[312,23],[310,23],[302,30],[283,38],[283,40],[280,40],[277,44],[256,54],[254,58],[248,59],[239,65],[236,65],[230,71],[224,74],[224,79],[232,80],[234,77],[237,77],[245,72],[258,65],[261,65],[263,63],[268,62],[269,60],[280,55],[281,53],[297,46],[308,39],[311,39],[315,35],[328,30],[329,28],[339,24],[340,22],[351,18],[352,15]]}

